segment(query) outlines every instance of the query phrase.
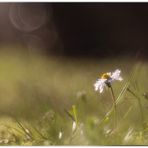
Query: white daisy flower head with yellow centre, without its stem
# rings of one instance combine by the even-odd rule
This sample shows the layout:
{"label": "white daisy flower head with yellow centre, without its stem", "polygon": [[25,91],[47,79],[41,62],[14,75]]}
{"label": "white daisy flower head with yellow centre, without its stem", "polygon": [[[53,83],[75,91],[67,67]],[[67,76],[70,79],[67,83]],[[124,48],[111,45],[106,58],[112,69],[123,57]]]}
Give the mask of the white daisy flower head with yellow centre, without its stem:
{"label": "white daisy flower head with yellow centre, without its stem", "polygon": [[100,79],[96,81],[94,84],[95,91],[98,91],[100,93],[103,92],[104,87],[107,85],[108,87],[111,87],[111,82],[114,80],[122,81],[123,78],[120,76],[121,70],[116,69],[114,72],[107,72],[104,73]]}

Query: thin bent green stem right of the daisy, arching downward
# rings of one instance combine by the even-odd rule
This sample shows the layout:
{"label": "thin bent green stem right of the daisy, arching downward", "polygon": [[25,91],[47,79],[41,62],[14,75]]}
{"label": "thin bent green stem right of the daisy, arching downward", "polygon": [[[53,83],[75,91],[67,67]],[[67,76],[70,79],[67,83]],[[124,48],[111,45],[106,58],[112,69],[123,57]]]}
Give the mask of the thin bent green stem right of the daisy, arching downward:
{"label": "thin bent green stem right of the daisy, arching downward", "polygon": [[140,114],[141,114],[141,123],[144,128],[144,113],[143,113],[143,109],[142,109],[141,99],[134,92],[132,92],[129,88],[127,89],[127,91],[129,91],[134,97],[136,97],[138,99],[138,105],[139,105]]}

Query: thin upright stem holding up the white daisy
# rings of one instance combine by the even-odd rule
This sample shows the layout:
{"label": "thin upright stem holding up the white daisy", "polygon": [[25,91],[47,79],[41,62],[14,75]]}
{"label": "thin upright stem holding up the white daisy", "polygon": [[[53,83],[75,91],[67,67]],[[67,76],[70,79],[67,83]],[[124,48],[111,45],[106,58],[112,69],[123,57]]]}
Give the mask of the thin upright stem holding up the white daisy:
{"label": "thin upright stem holding up the white daisy", "polygon": [[111,90],[111,96],[113,99],[113,107],[114,107],[114,127],[116,128],[117,127],[117,106],[116,106],[114,91],[111,85],[110,85],[110,90]]}

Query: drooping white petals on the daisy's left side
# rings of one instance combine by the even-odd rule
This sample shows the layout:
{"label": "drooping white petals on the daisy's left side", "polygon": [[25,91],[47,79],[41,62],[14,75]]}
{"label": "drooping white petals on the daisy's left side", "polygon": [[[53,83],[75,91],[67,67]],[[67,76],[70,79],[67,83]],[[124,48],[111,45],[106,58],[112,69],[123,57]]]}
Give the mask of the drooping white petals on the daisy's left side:
{"label": "drooping white petals on the daisy's left side", "polygon": [[99,90],[99,92],[102,93],[105,86],[105,81],[106,79],[98,79],[94,84],[95,91]]}

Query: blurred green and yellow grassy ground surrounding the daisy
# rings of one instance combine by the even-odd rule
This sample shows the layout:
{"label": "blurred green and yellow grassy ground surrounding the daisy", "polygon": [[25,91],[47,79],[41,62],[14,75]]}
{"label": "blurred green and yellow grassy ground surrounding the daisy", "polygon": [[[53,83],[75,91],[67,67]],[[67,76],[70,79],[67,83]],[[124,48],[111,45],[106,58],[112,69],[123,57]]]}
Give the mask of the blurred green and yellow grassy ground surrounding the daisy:
{"label": "blurred green and yellow grassy ground surrounding the daisy", "polygon": [[[7,51],[6,49],[4,51]],[[120,69],[102,93],[94,83]],[[148,145],[148,63],[0,53],[1,145]],[[116,111],[114,108],[116,104]]]}

